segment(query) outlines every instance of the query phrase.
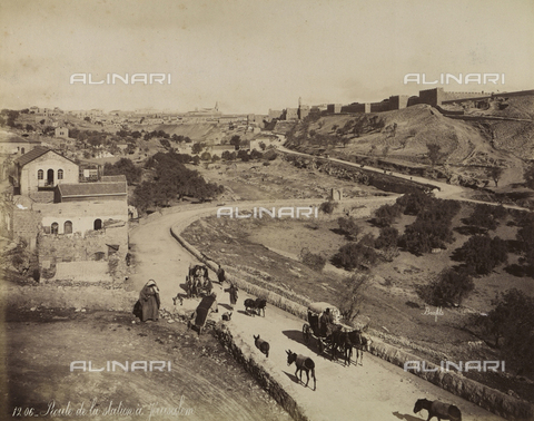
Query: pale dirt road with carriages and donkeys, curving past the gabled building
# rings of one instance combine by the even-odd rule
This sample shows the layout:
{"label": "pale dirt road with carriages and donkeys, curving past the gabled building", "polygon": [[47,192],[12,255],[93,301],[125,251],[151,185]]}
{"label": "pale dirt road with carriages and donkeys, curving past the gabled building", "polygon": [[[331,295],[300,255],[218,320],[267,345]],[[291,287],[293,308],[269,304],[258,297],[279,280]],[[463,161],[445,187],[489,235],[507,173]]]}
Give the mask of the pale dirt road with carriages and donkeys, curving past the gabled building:
{"label": "pale dirt road with carriages and donkeys, curving past the gabled building", "polygon": [[[293,206],[297,205],[304,204],[293,203]],[[175,232],[180,232],[196,218],[215,214],[214,206],[192,208],[155,217],[135,228],[130,236],[136,256],[137,273],[132,275],[135,285],[141,287],[148,278],[155,278],[160,286],[162,306],[171,307],[171,297],[180,291],[178,285],[184,282],[188,265],[195,260],[170,236],[169,229],[172,226]],[[215,278],[215,274],[210,277]],[[229,303],[228,294],[219,285],[215,290],[219,305],[224,309]],[[367,353],[363,366],[353,364],[349,368],[318,356],[314,345],[308,347],[301,343],[301,320],[273,306],[268,306],[265,319],[250,317],[243,312],[243,301],[246,297],[240,293],[230,322],[233,333],[241,335],[251,347],[253,334],[260,333],[270,343],[271,352],[268,361],[265,361],[266,366],[277,373],[286,390],[305,408],[310,420],[423,420],[427,417],[426,411],[417,415],[413,413],[414,403],[421,398],[456,404],[462,410],[463,420],[501,420]],[[185,301],[184,309],[192,310],[195,306],[196,302]],[[317,365],[317,391],[305,389],[295,382],[295,368],[287,368],[286,364],[287,349],[314,359]]]}

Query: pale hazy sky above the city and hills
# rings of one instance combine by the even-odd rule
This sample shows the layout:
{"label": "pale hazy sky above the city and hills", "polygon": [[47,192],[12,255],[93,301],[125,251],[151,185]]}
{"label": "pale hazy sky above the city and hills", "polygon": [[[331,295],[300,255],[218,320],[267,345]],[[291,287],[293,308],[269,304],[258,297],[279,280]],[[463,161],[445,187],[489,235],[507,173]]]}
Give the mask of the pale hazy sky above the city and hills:
{"label": "pale hazy sky above the city and hills", "polygon": [[[0,0],[0,107],[212,107],[267,114],[434,86],[406,74],[505,74],[534,89],[532,0]],[[171,74],[170,85],[70,84]]]}

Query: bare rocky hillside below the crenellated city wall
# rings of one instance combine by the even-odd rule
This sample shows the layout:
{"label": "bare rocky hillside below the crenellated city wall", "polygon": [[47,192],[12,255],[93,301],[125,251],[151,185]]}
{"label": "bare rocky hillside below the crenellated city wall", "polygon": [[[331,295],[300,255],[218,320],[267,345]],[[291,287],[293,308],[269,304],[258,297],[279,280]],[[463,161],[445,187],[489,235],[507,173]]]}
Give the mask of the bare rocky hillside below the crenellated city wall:
{"label": "bare rocky hillside below the crenellated city wall", "polygon": [[447,173],[482,180],[488,178],[488,167],[498,166],[510,184],[522,183],[523,165],[534,158],[534,96],[464,104],[463,111],[472,119],[449,118],[428,105],[330,115],[298,125],[288,134],[289,146],[426,166],[431,164],[427,144],[437,144],[441,157],[436,165]]}

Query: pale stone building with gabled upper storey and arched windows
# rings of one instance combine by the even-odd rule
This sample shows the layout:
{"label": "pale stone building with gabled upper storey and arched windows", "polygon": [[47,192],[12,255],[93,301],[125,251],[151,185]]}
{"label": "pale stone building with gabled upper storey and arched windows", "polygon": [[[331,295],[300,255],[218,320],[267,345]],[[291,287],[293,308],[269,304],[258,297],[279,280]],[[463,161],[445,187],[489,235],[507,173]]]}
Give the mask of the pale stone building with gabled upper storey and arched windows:
{"label": "pale stone building with gabled upper storey and arched windows", "polygon": [[47,148],[16,160],[12,203],[3,232],[28,245],[41,277],[111,281],[126,274],[128,188],[126,177],[88,182],[79,166]]}

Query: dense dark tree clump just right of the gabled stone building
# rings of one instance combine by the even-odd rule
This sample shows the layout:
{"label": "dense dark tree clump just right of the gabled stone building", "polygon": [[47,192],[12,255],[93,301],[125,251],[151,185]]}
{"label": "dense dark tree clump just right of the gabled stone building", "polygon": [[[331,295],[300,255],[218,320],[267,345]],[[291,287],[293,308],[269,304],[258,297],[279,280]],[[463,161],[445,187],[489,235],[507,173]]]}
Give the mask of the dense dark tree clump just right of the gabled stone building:
{"label": "dense dark tree clump just right of the gabled stone building", "polygon": [[134,192],[134,205],[142,213],[154,207],[167,207],[171,202],[184,196],[195,197],[201,202],[216,197],[224,187],[207,183],[196,170],[188,169],[181,154],[158,153],[146,163],[146,168],[154,172],[154,179],[142,182]]}

